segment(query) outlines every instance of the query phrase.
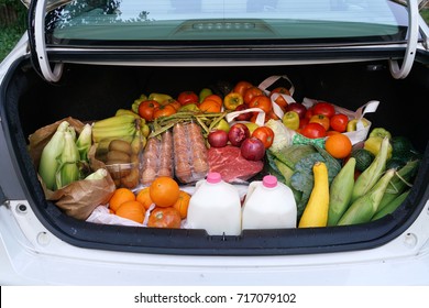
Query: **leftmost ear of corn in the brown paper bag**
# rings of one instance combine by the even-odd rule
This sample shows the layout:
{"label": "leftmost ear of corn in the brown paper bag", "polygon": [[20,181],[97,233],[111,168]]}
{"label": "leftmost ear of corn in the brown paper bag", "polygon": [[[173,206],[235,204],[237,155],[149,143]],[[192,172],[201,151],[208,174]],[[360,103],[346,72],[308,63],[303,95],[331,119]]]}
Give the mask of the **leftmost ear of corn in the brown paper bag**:
{"label": "leftmost ear of corn in the brown paper bag", "polygon": [[42,151],[41,162],[38,164],[38,175],[47,189],[56,189],[56,170],[59,166],[59,156],[63,153],[65,139],[64,134],[68,130],[69,123],[67,121],[62,122],[54,135]]}

